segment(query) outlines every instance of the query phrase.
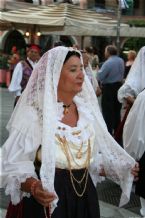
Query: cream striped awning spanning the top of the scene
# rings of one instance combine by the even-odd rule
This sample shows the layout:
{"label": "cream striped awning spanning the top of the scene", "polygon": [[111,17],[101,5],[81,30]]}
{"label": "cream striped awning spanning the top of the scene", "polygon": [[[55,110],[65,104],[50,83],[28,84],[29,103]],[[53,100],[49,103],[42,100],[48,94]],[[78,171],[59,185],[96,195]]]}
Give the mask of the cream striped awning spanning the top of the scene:
{"label": "cream striped awning spanning the top of the scene", "polygon": [[[41,31],[57,32],[60,35],[116,35],[117,20],[67,3],[0,13],[1,21],[10,22],[17,29],[36,25]],[[127,27],[121,23],[121,29]]]}

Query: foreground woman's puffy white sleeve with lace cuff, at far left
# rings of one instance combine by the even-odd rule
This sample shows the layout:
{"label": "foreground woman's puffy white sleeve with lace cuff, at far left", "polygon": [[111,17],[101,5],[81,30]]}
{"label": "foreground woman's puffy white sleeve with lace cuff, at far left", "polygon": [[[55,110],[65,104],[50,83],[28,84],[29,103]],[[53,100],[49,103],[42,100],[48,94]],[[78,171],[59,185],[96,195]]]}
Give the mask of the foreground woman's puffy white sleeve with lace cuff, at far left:
{"label": "foreground woman's puffy white sleeve with lace cuff, at far left", "polygon": [[6,188],[5,192],[11,196],[13,204],[19,203],[23,196],[29,196],[21,191],[21,183],[30,177],[37,178],[34,160],[41,144],[40,126],[38,120],[33,119],[33,114],[27,118],[32,120],[29,128],[13,128],[2,147],[2,187]]}

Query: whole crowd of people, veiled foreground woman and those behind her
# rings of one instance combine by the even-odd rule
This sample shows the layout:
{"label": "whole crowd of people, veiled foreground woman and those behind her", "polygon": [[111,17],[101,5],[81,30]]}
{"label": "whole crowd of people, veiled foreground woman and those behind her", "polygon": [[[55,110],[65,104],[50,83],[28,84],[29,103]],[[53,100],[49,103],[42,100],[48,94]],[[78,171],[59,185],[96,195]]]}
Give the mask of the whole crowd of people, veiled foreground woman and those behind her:
{"label": "whole crowd of people, veiled foreground woman and those behind her", "polygon": [[120,185],[120,206],[135,181],[145,216],[145,47],[129,51],[126,63],[114,45],[104,55],[99,67],[92,47],[58,43],[40,57],[31,45],[14,66],[2,160],[7,218],[99,218],[104,177]]}

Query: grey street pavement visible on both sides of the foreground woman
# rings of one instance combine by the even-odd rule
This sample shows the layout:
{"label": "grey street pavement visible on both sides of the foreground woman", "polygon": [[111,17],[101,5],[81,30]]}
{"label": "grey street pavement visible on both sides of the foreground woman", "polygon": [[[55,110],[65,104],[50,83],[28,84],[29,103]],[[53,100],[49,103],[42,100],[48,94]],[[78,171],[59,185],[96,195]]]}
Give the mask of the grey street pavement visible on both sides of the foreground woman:
{"label": "grey street pavement visible on both sides of the foreground woman", "polygon": [[[8,136],[5,126],[10,118],[13,110],[14,95],[9,93],[6,88],[0,88],[0,145],[4,143]],[[139,198],[133,193],[130,202],[119,208],[120,188],[113,182],[106,180],[97,186],[101,218],[139,218],[140,202]],[[4,195],[4,191],[0,189],[0,218],[5,217],[9,198]]]}

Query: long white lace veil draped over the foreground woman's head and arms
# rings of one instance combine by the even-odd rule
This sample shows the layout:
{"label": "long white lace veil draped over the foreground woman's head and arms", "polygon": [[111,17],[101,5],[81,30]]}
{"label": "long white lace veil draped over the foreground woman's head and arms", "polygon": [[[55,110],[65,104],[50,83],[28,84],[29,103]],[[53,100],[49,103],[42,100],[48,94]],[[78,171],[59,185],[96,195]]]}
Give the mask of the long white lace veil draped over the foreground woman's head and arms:
{"label": "long white lace veil draped over the foreground woman's head and arms", "polygon": [[[55,174],[55,130],[57,124],[57,85],[63,66],[63,62],[69,50],[72,48],[56,47],[46,52],[33,70],[28,85],[23,92],[12,117],[7,125],[9,131],[13,127],[20,129],[22,117],[29,113],[27,106],[32,106],[38,113],[41,126],[42,142],[42,166],[40,177],[43,187],[50,191],[54,190]],[[82,60],[82,58],[81,58]],[[130,195],[133,177],[130,170],[134,166],[134,160],[114,141],[107,131],[99,109],[99,104],[87,76],[83,83],[82,91],[78,94],[90,109],[94,117],[96,141],[94,145],[94,162],[90,166],[90,174],[93,182],[97,182],[97,154],[101,152],[103,164],[109,178],[117,182],[123,190],[123,202],[125,204]],[[31,122],[31,120],[27,121]],[[23,126],[23,129],[28,128]],[[128,185],[127,185],[127,184]],[[56,207],[57,199],[52,203],[52,211]]]}

